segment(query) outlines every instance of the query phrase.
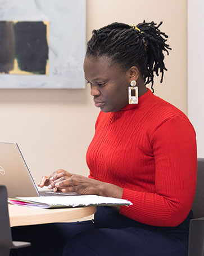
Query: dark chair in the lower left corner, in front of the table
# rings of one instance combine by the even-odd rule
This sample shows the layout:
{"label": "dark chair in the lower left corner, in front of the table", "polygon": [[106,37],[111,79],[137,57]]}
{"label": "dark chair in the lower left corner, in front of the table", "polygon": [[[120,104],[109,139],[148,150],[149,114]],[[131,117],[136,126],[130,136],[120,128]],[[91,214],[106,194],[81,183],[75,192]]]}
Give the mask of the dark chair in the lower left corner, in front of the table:
{"label": "dark chair in the lower left corner, in front of the table", "polygon": [[8,217],[7,189],[0,185],[0,255],[8,256],[10,249],[30,246],[30,242],[12,241]]}

